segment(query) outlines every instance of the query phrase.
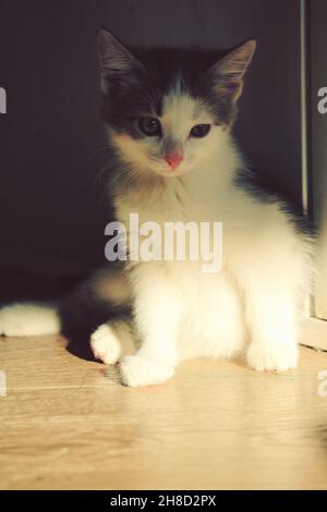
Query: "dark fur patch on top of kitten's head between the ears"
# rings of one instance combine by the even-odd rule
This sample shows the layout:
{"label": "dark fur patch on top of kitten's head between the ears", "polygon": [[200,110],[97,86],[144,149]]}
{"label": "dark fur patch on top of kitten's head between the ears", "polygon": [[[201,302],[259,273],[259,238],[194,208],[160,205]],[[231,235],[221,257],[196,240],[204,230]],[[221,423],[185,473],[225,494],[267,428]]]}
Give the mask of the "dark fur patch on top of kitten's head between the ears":
{"label": "dark fur patch on top of kitten's head between the ears", "polygon": [[102,115],[118,132],[142,138],[135,118],[161,115],[162,99],[180,77],[181,88],[194,98],[204,99],[217,124],[230,124],[235,105],[232,98],[215,94],[207,71],[226,52],[199,49],[131,49],[146,72],[134,66],[129,73],[112,76],[109,95],[104,96]]}

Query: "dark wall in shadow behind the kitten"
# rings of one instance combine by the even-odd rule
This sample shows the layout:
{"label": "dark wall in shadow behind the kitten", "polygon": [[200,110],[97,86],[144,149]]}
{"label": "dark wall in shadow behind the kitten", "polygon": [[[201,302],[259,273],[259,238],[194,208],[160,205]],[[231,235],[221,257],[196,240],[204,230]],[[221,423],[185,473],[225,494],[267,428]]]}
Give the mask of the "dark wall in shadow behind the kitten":
{"label": "dark wall in shadow behind the kitten", "polygon": [[56,276],[102,259],[101,25],[133,45],[256,37],[238,133],[251,163],[301,197],[298,0],[0,0],[0,265]]}

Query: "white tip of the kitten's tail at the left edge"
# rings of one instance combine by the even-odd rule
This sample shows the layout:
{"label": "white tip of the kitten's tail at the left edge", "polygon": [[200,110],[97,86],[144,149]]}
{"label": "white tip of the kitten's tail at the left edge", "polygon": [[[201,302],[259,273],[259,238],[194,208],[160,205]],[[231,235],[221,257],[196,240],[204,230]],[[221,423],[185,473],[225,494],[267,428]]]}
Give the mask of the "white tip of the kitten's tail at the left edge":
{"label": "white tip of the kitten's tail at the left edge", "polygon": [[50,304],[10,304],[0,309],[0,336],[28,337],[59,334],[59,308]]}

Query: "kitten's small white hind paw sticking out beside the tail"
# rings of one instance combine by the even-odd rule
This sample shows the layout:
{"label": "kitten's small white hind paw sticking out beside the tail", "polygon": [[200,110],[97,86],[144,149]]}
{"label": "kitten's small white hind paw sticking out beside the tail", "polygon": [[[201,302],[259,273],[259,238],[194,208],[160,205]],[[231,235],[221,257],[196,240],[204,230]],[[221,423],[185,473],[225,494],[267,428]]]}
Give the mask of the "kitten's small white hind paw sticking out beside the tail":
{"label": "kitten's small white hind paw sticking out beside the tail", "polygon": [[90,337],[94,356],[106,365],[116,365],[120,358],[120,342],[110,326],[104,324]]}

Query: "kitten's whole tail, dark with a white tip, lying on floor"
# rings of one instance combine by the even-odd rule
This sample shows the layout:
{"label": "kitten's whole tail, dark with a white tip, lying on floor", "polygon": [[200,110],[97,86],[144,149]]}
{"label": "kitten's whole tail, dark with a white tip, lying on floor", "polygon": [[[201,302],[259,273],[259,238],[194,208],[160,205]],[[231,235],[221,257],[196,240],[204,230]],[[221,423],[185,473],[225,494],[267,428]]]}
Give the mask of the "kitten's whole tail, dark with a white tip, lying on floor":
{"label": "kitten's whole tail, dark with a white tip, lying on floor", "polygon": [[0,308],[0,336],[50,336],[92,332],[130,313],[129,287],[118,270],[101,269],[60,304],[14,303]]}

